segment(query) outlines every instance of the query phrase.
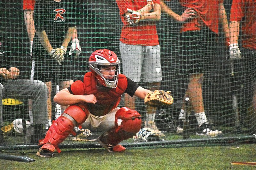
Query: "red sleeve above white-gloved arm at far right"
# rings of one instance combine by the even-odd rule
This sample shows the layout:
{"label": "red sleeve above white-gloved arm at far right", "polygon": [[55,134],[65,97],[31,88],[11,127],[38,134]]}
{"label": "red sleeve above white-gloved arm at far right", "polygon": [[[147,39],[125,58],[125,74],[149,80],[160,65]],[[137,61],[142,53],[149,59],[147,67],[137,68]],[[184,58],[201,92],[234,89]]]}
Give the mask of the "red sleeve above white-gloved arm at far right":
{"label": "red sleeve above white-gloved arm at far right", "polygon": [[245,7],[244,0],[233,0],[231,11],[230,11],[230,19],[229,21],[237,21],[240,22],[244,17]]}

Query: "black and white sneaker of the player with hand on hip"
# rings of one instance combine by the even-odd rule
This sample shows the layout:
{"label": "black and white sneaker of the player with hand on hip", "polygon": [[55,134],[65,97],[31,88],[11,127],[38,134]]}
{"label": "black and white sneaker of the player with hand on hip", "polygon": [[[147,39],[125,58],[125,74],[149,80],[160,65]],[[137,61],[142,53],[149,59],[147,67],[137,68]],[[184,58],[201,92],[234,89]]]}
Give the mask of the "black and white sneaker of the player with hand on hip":
{"label": "black and white sneaker of the player with hand on hip", "polygon": [[212,128],[212,124],[206,124],[204,122],[200,127],[199,130],[196,132],[198,136],[206,136],[206,137],[215,137],[222,134],[220,130]]}

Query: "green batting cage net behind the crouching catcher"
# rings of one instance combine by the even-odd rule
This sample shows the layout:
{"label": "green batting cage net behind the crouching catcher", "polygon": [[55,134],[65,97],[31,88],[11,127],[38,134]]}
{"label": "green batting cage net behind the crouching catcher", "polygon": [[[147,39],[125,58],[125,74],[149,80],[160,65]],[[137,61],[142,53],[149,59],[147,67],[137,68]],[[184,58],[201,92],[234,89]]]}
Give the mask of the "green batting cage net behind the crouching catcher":
{"label": "green batting cage net behind the crouching catcher", "polygon": [[[142,116],[140,131],[123,140],[124,147],[255,142],[255,7],[250,0],[4,0],[0,149],[38,149],[50,127],[60,149],[102,148],[96,139],[104,128],[82,121],[73,132],[65,131],[55,121],[68,106],[54,102],[65,88],[81,95],[85,86],[77,92],[77,84],[70,87],[78,80],[90,86],[90,94],[95,89],[101,94],[99,82],[84,78],[98,49],[115,52],[120,73],[139,86],[171,91],[174,99],[170,106],[148,107],[124,93],[117,107]],[[103,116],[113,100],[99,94],[99,103],[82,105]]]}

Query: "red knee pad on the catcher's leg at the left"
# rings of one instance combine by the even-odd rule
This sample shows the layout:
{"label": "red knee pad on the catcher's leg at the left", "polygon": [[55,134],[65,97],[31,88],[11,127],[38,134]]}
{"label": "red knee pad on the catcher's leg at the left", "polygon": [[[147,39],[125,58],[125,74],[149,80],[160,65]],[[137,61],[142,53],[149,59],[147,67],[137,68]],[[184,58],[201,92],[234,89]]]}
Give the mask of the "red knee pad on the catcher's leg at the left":
{"label": "red knee pad on the catcher's leg at the left", "polygon": [[78,125],[82,124],[89,115],[88,109],[82,104],[70,105],[63,113],[71,116]]}

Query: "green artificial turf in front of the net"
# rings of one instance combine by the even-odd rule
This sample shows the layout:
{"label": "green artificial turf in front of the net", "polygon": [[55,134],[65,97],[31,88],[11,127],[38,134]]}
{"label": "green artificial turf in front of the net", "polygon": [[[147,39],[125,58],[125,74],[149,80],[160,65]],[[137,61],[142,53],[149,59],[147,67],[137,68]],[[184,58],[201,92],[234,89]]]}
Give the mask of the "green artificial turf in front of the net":
{"label": "green artificial turf in front of the net", "polygon": [[[239,148],[237,148],[239,146]],[[237,149],[235,149],[237,148]],[[105,149],[63,150],[54,158],[34,153],[15,154],[35,159],[18,162],[0,159],[1,169],[255,169],[231,165],[232,161],[256,162],[256,144],[157,149],[127,149],[109,153]],[[11,153],[10,153],[11,154]],[[14,155],[12,153],[12,155]]]}

